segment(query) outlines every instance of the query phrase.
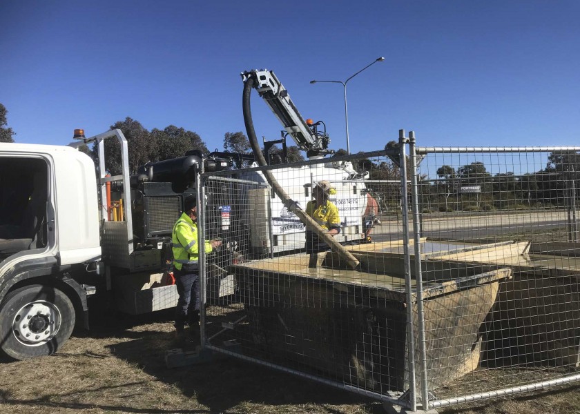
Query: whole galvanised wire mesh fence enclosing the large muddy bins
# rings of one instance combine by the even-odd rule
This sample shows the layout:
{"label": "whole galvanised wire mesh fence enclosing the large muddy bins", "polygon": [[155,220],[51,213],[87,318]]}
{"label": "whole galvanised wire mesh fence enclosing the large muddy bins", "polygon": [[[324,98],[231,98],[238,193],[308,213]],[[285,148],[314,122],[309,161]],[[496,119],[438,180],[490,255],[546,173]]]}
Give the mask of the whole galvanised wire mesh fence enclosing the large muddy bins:
{"label": "whole galvanised wire mesh fence enclosing the large muddy bins", "polygon": [[577,380],[580,148],[407,141],[202,175],[205,346],[413,409]]}

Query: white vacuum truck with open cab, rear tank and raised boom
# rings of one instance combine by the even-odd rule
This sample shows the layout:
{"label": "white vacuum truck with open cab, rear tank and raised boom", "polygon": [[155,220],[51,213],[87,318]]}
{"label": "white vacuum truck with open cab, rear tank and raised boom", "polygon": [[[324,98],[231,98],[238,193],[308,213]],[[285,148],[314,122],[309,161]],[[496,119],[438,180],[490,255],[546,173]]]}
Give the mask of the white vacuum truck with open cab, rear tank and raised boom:
{"label": "white vacuum truck with open cab, rear tank and raised boom", "polygon": [[[291,103],[280,86],[276,99]],[[301,121],[293,104],[284,108],[282,112],[298,115],[294,119],[304,124],[299,128],[302,132],[316,131]],[[311,157],[330,152],[325,149],[327,137],[315,133],[313,141],[309,137],[305,141],[294,126],[284,126]],[[127,313],[175,306],[175,285],[164,282],[171,266],[171,229],[184,198],[198,190],[200,167],[209,172],[230,168],[227,159],[191,152],[148,164],[130,177],[127,142],[120,130],[88,139],[82,130],[75,130],[75,135],[77,141],[70,146],[0,144],[0,349],[14,359],[50,355],[66,342],[75,324],[88,328],[87,297],[97,289],[115,293],[117,306]],[[122,173],[114,177],[106,175],[104,140],[108,138],[116,138],[121,149]],[[88,143],[98,148],[96,169],[93,159],[75,148]],[[360,179],[364,177],[349,163],[331,159],[311,168],[276,171],[286,180],[289,174],[301,177],[289,191],[302,206],[310,199],[309,184],[303,182],[305,168],[313,180],[329,179],[329,170],[334,172],[330,176],[336,177],[335,202],[345,220],[341,241],[362,239],[367,197]],[[253,203],[249,214],[270,219],[261,230],[252,229],[247,241],[251,250],[273,254],[301,248],[300,221],[284,210],[280,200],[267,196],[263,175],[240,170],[240,177],[263,184],[251,197],[264,202]],[[222,204],[207,210],[223,208]],[[291,234],[301,238],[287,237]],[[222,248],[222,263],[231,263],[239,244],[229,246]]]}

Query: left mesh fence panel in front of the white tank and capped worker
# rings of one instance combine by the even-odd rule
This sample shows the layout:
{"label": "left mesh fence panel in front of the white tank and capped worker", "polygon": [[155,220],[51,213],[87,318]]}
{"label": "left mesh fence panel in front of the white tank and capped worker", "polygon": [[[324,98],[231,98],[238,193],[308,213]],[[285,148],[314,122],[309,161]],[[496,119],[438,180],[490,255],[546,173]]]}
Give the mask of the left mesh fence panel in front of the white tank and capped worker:
{"label": "left mesh fence panel in front of the white tank and capped worker", "polygon": [[[265,170],[303,210],[313,187],[329,181],[341,230],[334,238],[358,268],[325,246],[305,252],[305,225]],[[378,400],[409,389],[416,310],[407,307],[403,213],[394,207],[400,171],[384,150],[205,174],[202,193],[204,237],[223,243],[204,257],[207,348]],[[375,210],[378,199],[388,207]]]}

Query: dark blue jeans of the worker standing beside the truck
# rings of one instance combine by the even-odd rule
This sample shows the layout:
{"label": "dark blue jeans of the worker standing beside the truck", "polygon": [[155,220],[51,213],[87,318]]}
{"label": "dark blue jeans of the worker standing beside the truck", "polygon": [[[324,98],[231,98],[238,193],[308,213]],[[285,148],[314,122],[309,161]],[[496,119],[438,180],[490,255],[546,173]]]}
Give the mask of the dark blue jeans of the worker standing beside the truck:
{"label": "dark blue jeans of the worker standing beside the truck", "polygon": [[[185,267],[185,266],[184,266]],[[175,286],[177,286],[177,307],[175,308],[175,328],[180,331],[185,327],[197,326],[200,322],[200,275],[199,270],[173,269]],[[193,297],[193,300],[191,300]]]}

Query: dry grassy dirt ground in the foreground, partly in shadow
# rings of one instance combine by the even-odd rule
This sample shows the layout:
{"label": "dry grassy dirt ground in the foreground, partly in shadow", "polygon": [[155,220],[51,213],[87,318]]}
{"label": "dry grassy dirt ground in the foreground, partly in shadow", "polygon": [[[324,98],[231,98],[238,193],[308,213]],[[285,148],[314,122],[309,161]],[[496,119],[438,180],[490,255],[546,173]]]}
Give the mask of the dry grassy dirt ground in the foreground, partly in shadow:
{"label": "dry grassy dirt ground in the foreground, partly in shadow", "polygon": [[[0,359],[0,413],[384,413],[382,404],[287,373],[221,357],[166,368],[171,312],[91,318],[50,357]],[[439,413],[580,413],[580,385]]]}

